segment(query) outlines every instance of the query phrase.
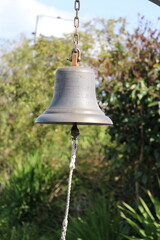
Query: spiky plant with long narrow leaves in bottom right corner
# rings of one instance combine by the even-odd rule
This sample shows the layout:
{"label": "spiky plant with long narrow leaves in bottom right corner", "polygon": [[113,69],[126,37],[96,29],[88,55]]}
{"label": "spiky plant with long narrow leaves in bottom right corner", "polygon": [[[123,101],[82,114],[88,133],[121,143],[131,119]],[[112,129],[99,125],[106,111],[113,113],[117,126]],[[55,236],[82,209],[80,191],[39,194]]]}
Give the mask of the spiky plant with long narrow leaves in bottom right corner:
{"label": "spiky plant with long narrow leaves in bottom right corner", "polygon": [[121,216],[135,230],[134,236],[126,236],[126,239],[159,240],[160,239],[160,201],[148,191],[150,206],[142,198],[139,198],[138,210],[123,202],[120,206]]}

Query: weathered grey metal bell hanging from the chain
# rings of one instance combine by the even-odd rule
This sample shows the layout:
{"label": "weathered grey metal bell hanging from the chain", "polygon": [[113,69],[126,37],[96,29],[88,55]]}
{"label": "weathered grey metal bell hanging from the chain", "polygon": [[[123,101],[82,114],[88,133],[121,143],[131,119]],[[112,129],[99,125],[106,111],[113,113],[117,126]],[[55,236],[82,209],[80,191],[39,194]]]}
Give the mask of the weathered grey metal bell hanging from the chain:
{"label": "weathered grey metal bell hanging from the chain", "polygon": [[111,125],[99,108],[95,94],[95,74],[86,67],[64,67],[56,72],[54,96],[49,108],[36,123]]}

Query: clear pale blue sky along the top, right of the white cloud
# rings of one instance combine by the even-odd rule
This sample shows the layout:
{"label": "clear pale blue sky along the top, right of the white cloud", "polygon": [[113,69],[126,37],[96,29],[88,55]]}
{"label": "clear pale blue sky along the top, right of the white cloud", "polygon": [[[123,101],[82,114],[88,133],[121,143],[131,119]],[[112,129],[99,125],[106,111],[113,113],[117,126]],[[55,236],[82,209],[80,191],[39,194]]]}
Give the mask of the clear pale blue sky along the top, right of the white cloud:
{"label": "clear pale blue sky along the top, right of the white cloud", "polygon": [[[39,0],[57,9],[74,11],[74,0]],[[66,2],[68,2],[66,4]],[[137,23],[137,14],[156,22],[160,17],[160,7],[148,0],[81,0],[81,16],[117,18],[126,17],[131,23]]]}

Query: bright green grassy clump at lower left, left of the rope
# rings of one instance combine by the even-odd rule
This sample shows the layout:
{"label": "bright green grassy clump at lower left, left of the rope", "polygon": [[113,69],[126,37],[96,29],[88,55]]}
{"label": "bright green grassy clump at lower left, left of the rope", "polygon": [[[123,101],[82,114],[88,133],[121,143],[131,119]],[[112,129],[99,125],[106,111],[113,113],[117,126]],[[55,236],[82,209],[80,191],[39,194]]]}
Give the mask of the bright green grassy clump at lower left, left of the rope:
{"label": "bright green grassy clump at lower left, left of the rope", "polygon": [[[26,163],[17,161],[11,179],[5,184],[3,209],[12,220],[23,222],[25,218],[32,219],[37,213],[41,202],[46,201],[49,181],[53,178],[52,171],[41,160],[40,155],[26,157]],[[51,178],[52,177],[52,178]]]}

